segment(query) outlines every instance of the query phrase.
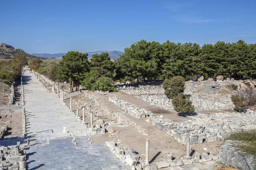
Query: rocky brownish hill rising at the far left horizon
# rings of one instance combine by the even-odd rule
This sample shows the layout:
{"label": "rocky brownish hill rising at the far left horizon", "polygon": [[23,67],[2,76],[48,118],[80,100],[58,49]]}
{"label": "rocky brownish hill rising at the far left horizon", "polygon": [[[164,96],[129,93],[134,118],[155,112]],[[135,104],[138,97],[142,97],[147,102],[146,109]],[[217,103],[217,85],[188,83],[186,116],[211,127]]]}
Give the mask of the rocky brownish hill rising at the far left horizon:
{"label": "rocky brownish hill rising at the far left horizon", "polygon": [[0,43],[0,59],[12,59],[18,53],[24,53],[27,59],[38,58],[34,55],[26,53],[22,49],[15,49],[12,47],[12,45]]}

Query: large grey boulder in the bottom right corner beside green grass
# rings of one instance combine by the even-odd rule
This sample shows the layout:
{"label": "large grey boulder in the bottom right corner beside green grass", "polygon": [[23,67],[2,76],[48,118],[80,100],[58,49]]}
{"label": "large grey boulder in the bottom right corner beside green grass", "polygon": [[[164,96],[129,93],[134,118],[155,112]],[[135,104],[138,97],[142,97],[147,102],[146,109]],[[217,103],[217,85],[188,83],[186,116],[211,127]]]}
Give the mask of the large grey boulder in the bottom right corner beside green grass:
{"label": "large grey boulder in the bottom right corner beside green grass", "polygon": [[239,170],[255,170],[256,158],[238,150],[239,141],[226,141],[218,150],[218,155],[222,164],[228,164]]}

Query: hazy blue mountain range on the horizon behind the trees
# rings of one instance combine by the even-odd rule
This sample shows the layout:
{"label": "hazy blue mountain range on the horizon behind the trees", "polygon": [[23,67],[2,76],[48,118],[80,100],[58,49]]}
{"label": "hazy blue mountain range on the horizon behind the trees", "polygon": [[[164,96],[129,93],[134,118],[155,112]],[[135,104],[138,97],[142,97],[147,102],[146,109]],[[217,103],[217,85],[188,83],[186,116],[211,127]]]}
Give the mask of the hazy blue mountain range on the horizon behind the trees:
{"label": "hazy blue mountain range on the horizon behind the trees", "polygon": [[[93,51],[93,52],[87,52],[88,58],[92,58],[93,54],[101,54],[103,52],[108,52],[108,55],[111,59],[118,59],[120,54],[124,54],[123,51]],[[57,53],[57,54],[32,54],[37,57],[44,57],[44,58],[61,58],[66,53]]]}

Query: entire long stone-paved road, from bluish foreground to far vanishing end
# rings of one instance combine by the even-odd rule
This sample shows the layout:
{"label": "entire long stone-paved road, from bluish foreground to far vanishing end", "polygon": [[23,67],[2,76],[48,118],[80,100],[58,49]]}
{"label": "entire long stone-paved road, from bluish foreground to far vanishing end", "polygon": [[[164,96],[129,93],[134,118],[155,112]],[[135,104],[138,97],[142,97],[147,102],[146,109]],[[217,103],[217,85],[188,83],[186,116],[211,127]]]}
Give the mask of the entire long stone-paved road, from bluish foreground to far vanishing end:
{"label": "entire long stone-paved road, from bluish foreground to far vanishing end", "polygon": [[[28,170],[128,170],[104,145],[85,142],[73,147],[72,137],[84,136],[86,130],[59,99],[25,70],[23,74],[27,135]],[[63,127],[68,133],[63,133]],[[79,138],[79,137],[76,137]],[[87,139],[87,138],[84,138]]]}

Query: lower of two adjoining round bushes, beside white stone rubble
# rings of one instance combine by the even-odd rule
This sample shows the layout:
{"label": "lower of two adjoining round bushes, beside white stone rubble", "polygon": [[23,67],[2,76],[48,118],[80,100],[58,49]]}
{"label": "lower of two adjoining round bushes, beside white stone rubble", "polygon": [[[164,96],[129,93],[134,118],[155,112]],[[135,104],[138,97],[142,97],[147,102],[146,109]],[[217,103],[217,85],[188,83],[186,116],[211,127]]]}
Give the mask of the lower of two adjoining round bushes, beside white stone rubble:
{"label": "lower of two adjoining round bushes, beside white stone rubble", "polygon": [[180,116],[185,116],[185,113],[193,114],[195,112],[195,107],[184,94],[179,94],[172,99],[172,105],[174,110],[180,113]]}

